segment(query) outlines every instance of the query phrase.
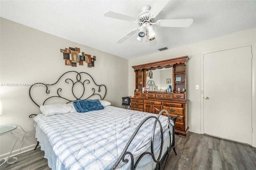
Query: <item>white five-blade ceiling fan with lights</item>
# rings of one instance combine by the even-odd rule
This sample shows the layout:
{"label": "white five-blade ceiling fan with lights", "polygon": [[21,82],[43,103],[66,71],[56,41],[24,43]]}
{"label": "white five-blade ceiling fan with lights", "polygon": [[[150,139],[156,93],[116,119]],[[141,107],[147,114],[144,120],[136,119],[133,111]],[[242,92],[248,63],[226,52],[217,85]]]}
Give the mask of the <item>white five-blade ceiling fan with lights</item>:
{"label": "white five-blade ceiling fan with lights", "polygon": [[176,20],[155,20],[155,17],[161,12],[161,10],[166,6],[169,0],[165,1],[156,1],[152,7],[149,5],[142,6],[142,12],[138,15],[137,18],[132,16],[127,16],[124,14],[119,14],[112,11],[107,11],[104,13],[104,16],[115,18],[119,20],[125,20],[130,22],[137,22],[139,28],[135,28],[119,40],[117,43],[122,43],[128,38],[130,38],[136,32],[138,33],[137,40],[142,41],[142,38],[146,36],[146,41],[150,43],[150,45],[156,44],[156,32],[154,32],[153,25],[159,27],[189,27],[193,23],[193,19],[176,19]]}

